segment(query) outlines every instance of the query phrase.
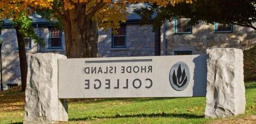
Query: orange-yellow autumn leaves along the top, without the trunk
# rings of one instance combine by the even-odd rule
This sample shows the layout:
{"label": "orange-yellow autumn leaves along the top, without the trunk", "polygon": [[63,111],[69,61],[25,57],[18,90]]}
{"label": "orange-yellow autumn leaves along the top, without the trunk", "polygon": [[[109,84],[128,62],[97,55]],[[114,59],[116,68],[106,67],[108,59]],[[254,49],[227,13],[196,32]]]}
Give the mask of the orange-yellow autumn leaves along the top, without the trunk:
{"label": "orange-yellow autumn leaves along the top, without the trunk", "polygon": [[[1,0],[0,19],[15,18],[20,15],[20,12],[27,12],[28,15],[33,13],[36,9],[51,9],[54,14],[63,15],[65,11],[76,9],[77,5],[86,6],[86,14],[89,18],[97,20],[99,28],[119,28],[119,22],[125,21],[127,13],[126,4],[134,3],[156,3],[160,6],[168,4],[178,4],[184,0],[130,0],[117,1],[112,0]],[[192,3],[192,0],[185,0],[186,3]]]}

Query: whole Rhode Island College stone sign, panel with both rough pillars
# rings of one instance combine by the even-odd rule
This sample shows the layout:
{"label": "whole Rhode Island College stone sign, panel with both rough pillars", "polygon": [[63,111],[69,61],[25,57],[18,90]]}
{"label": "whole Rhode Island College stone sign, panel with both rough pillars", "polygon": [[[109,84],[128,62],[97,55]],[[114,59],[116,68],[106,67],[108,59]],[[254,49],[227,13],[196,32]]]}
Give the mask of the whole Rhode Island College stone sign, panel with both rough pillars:
{"label": "whole Rhode Island College stone sign, panel with both rough pillars", "polygon": [[25,123],[68,121],[66,98],[206,96],[205,117],[245,112],[241,49],[86,59],[34,54],[29,55],[28,65]]}

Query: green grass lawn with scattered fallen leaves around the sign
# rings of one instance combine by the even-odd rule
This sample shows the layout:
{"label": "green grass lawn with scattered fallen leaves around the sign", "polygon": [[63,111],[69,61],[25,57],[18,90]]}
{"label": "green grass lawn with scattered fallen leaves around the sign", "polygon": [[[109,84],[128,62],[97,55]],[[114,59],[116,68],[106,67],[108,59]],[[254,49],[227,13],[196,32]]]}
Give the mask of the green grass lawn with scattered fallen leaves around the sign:
{"label": "green grass lawn with scattered fallen leaves around the sign", "polygon": [[[256,82],[246,86],[246,112],[228,118],[204,118],[205,97],[69,100],[71,123],[256,123]],[[0,122],[24,121],[20,88],[0,93]]]}

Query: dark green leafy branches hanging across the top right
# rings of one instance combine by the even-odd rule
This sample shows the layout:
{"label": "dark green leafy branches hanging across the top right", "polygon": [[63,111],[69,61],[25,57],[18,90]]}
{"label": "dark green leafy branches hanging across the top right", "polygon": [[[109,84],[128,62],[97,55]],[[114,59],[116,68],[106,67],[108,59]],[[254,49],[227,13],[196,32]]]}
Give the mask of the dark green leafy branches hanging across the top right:
{"label": "dark green leafy branches hanging across the top right", "polygon": [[190,18],[191,24],[201,21],[206,23],[219,22],[223,24],[237,24],[256,30],[253,22],[256,22],[255,0],[197,0],[191,5],[179,3],[175,6],[161,7],[151,4],[150,7],[136,10],[142,16],[143,23],[151,17],[153,12],[158,15],[154,21],[154,27],[161,26],[165,20],[174,18]]}

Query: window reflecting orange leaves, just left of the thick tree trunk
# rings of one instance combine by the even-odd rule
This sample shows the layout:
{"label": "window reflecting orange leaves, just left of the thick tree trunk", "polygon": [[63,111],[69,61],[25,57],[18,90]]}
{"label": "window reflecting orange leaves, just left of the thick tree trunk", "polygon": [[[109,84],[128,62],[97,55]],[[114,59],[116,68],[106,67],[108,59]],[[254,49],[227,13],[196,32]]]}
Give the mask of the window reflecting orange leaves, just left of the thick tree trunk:
{"label": "window reflecting orange leaves, just left of the thick tree trunk", "polygon": [[62,48],[62,31],[60,29],[50,29],[49,48]]}

